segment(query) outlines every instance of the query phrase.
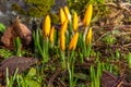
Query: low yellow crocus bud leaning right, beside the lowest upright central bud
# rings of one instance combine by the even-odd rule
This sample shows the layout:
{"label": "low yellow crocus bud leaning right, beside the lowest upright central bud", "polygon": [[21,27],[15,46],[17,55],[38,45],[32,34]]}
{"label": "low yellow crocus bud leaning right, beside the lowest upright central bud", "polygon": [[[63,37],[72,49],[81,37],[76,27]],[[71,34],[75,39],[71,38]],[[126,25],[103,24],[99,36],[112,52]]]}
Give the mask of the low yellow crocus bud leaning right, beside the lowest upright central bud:
{"label": "low yellow crocus bud leaning right, beside the lowest upright central bud", "polygon": [[76,44],[78,44],[78,39],[79,39],[79,32],[76,32],[73,35],[73,37],[72,37],[72,39],[70,41],[70,45],[69,45],[69,50],[75,50]]}

